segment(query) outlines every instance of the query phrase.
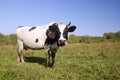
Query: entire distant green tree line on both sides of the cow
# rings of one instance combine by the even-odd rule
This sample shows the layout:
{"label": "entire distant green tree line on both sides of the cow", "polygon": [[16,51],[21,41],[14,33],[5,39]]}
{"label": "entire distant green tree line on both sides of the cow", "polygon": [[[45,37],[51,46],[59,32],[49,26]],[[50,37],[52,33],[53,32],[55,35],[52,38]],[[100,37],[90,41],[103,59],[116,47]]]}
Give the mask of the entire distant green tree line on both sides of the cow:
{"label": "entire distant green tree line on both sides of the cow", "polygon": [[[102,37],[96,36],[75,36],[71,34],[68,38],[68,43],[99,43],[103,41],[120,41],[120,31],[115,33],[104,33]],[[0,45],[16,45],[16,34],[4,35],[0,33]]]}

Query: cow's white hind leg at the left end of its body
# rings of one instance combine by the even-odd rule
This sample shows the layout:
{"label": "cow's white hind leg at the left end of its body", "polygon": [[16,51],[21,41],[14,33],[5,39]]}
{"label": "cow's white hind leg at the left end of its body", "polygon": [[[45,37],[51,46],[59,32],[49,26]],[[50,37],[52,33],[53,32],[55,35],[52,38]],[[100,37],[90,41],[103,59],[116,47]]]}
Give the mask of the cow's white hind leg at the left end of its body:
{"label": "cow's white hind leg at the left end of its body", "polygon": [[18,63],[24,63],[22,50],[23,50],[23,42],[18,39]]}

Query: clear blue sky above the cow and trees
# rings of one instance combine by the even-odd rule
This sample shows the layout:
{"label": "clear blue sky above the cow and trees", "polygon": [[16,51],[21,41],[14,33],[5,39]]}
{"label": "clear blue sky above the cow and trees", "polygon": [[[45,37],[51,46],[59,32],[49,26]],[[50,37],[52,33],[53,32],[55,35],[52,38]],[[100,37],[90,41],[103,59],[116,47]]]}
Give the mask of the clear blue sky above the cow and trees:
{"label": "clear blue sky above the cow and trees", "polygon": [[19,25],[38,26],[71,21],[72,34],[102,36],[120,31],[120,0],[0,0],[0,33]]}

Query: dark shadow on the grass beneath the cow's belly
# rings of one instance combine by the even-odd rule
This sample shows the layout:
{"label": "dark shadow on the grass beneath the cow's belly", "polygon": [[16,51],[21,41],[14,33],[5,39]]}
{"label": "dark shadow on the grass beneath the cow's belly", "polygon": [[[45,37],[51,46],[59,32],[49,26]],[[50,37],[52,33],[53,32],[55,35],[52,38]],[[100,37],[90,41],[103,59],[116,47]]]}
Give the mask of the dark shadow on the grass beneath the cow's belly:
{"label": "dark shadow on the grass beneath the cow's belly", "polygon": [[42,57],[24,57],[25,62],[30,63],[39,63],[41,65],[45,65],[46,59]]}

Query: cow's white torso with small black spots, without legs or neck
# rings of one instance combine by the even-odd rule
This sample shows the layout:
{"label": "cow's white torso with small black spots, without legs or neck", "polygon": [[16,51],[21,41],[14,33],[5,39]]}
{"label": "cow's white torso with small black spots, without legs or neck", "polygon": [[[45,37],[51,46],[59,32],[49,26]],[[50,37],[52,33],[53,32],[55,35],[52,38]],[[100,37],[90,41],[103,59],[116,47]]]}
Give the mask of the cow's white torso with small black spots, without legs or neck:
{"label": "cow's white torso with small black spots, without legs or neck", "polygon": [[39,49],[44,47],[47,29],[48,26],[19,27],[16,34],[25,47]]}

